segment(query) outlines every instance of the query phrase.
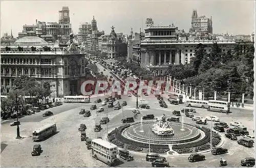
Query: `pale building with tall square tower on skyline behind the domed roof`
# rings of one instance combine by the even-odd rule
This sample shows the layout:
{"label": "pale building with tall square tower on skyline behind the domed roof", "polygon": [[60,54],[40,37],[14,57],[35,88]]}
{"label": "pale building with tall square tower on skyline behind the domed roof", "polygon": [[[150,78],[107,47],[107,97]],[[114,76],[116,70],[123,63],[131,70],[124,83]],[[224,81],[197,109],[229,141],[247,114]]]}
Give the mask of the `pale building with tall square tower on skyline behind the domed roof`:
{"label": "pale building with tall square tower on skyline behind the domed roof", "polygon": [[18,38],[26,36],[37,36],[47,42],[66,43],[69,40],[69,35],[72,33],[70,23],[69,7],[62,7],[59,12],[58,22],[41,22],[35,21],[35,25],[23,25],[23,31],[18,33]]}

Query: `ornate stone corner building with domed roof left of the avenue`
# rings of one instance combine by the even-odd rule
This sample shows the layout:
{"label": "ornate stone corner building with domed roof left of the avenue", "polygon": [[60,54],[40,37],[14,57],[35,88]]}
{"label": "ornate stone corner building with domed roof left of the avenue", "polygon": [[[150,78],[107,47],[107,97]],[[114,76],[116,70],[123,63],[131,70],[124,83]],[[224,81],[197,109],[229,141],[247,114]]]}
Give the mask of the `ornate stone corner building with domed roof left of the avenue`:
{"label": "ornate stone corner building with domed roof left of the avenue", "polygon": [[88,70],[84,47],[76,47],[73,34],[70,45],[60,47],[36,36],[18,39],[13,45],[1,46],[1,93],[8,94],[16,76],[27,75],[48,81],[52,96],[77,95]]}

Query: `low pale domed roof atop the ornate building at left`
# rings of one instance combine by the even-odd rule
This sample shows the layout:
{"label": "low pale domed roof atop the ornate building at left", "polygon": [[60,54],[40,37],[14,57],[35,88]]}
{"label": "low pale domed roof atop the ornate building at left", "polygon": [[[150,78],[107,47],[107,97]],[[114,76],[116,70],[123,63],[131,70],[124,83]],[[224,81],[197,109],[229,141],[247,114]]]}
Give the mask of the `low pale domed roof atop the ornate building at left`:
{"label": "low pale domed roof atop the ornate building at left", "polygon": [[16,40],[14,45],[48,45],[48,43],[40,37],[26,36]]}

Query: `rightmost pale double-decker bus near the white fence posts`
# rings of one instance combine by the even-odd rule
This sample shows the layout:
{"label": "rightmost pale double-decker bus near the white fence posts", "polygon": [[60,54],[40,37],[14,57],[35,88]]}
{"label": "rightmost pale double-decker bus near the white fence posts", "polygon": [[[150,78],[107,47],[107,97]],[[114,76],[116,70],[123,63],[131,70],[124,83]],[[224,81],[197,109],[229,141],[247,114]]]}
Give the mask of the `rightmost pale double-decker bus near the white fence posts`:
{"label": "rightmost pale double-decker bus near the white fence posts", "polygon": [[230,103],[221,100],[209,100],[208,101],[208,111],[217,111],[220,113],[229,113]]}

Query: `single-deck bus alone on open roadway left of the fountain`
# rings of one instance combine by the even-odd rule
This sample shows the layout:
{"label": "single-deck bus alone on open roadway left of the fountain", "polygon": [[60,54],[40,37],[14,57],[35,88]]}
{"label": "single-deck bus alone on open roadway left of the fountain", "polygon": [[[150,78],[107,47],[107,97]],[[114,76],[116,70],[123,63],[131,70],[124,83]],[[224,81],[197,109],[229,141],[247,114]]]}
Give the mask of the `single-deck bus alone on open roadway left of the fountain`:
{"label": "single-deck bus alone on open roadway left of the fountain", "polygon": [[46,137],[55,134],[57,131],[56,124],[46,124],[39,129],[36,129],[32,132],[33,141],[42,141]]}

